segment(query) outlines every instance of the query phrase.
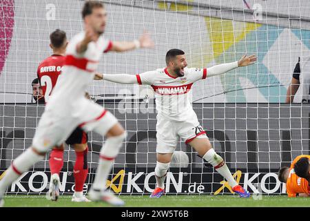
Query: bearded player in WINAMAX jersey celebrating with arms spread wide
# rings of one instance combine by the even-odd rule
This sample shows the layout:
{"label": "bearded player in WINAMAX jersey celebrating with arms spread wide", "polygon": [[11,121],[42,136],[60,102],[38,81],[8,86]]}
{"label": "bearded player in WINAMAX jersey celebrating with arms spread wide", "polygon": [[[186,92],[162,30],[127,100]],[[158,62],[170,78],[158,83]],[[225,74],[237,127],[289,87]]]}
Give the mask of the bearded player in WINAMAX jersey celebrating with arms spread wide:
{"label": "bearded player in WINAMAX jersey celebrating with arms spread wide", "polygon": [[249,192],[234,180],[223,158],[211,148],[211,143],[192,108],[189,91],[195,81],[220,75],[240,66],[254,64],[256,59],[255,55],[245,55],[239,61],[211,68],[187,68],[185,52],[172,49],[166,55],[166,68],[159,68],[136,76],[103,75],[103,79],[116,83],[148,84],[155,91],[156,110],[158,111],[156,124],[157,164],[155,168],[156,189],[151,195],[152,198],[160,198],[165,193],[165,176],[179,137],[185,140],[185,143],[193,146],[203,159],[214,166],[214,169],[229,182],[235,193],[243,198],[249,197]]}

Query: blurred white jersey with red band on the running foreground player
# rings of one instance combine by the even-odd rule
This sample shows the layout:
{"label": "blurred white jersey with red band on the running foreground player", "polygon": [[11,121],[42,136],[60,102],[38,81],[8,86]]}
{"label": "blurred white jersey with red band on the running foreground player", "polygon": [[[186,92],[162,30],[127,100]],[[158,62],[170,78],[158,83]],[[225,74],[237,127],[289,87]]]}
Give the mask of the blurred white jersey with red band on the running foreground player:
{"label": "blurred white jersey with red band on the running foreground player", "polygon": [[85,32],[81,32],[70,40],[65,53],[65,64],[47,103],[47,109],[57,109],[64,114],[73,111],[74,103],[85,96],[87,86],[92,83],[101,55],[112,47],[112,41],[101,35],[96,42],[88,44],[85,52],[78,54],[76,46],[84,37]]}

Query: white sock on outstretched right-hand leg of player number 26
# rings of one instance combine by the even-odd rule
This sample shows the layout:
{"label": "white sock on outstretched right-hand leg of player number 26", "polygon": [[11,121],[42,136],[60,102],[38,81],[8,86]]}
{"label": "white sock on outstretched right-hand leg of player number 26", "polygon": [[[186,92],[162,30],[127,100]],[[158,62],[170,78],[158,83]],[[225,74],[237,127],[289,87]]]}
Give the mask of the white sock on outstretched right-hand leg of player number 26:
{"label": "white sock on outstretched right-hand leg of player number 26", "polygon": [[223,158],[220,157],[220,155],[218,155],[214,151],[213,148],[209,149],[209,151],[207,151],[207,153],[205,153],[205,155],[203,156],[203,159],[207,160],[207,162],[209,162],[209,164],[214,166],[214,169],[216,169],[216,171],[218,171],[218,173],[220,173],[220,175],[223,175],[223,177],[225,177],[225,179],[228,181],[228,183],[231,187],[238,185],[236,180],[234,180],[234,177],[232,177],[232,175],[228,169],[228,166],[225,164],[225,161],[223,160]]}

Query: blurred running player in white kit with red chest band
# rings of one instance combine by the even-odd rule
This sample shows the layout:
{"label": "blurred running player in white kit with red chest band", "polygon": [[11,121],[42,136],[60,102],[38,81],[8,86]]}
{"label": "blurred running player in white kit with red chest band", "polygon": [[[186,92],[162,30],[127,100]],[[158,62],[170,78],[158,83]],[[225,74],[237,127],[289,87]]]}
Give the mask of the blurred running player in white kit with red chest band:
{"label": "blurred running player in white kit with red chest band", "polygon": [[95,70],[104,51],[125,51],[154,45],[148,35],[131,42],[112,42],[103,37],[107,13],[99,1],[86,1],[82,11],[85,31],[74,36],[68,44],[61,77],[48,99],[40,119],[32,146],[12,162],[0,181],[0,204],[3,195],[14,180],[31,166],[44,159],[45,153],[59,146],[77,126],[83,131],[95,131],[107,137],[101,148],[99,166],[90,190],[93,201],[105,201],[121,206],[123,200],[106,191],[105,183],[118,155],[125,131],[118,120],[99,104],[85,97],[85,90],[92,82]]}

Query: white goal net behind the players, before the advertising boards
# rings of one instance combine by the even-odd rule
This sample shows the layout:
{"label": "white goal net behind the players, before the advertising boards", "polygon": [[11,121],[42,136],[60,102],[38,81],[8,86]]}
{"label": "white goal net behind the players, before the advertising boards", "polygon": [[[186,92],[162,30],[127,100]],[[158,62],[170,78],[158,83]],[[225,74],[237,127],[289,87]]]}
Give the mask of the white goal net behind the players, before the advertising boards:
{"label": "white goal net behind the players, before the advertising boards", "polygon": [[[0,1],[0,173],[32,142],[44,106],[34,104],[32,80],[40,61],[51,55],[50,32],[68,39],[83,30],[81,0]],[[171,48],[185,51],[189,67],[210,67],[256,54],[247,68],[198,81],[193,108],[217,153],[237,182],[251,193],[285,193],[277,178],[281,166],[309,154],[309,105],[285,104],[298,57],[310,55],[308,0],[122,0],[103,1],[108,13],[105,37],[130,41],[147,30],[154,49],[103,55],[101,73],[135,75],[165,67]],[[115,193],[149,194],[155,187],[156,109],[148,86],[94,81],[94,101],[109,109],[127,131],[107,186]],[[91,186],[104,138],[89,135]],[[72,193],[75,154],[65,148],[61,193]],[[8,193],[46,193],[48,155],[24,173]],[[231,193],[211,165],[184,142],[176,146],[166,179],[171,194]]]}

